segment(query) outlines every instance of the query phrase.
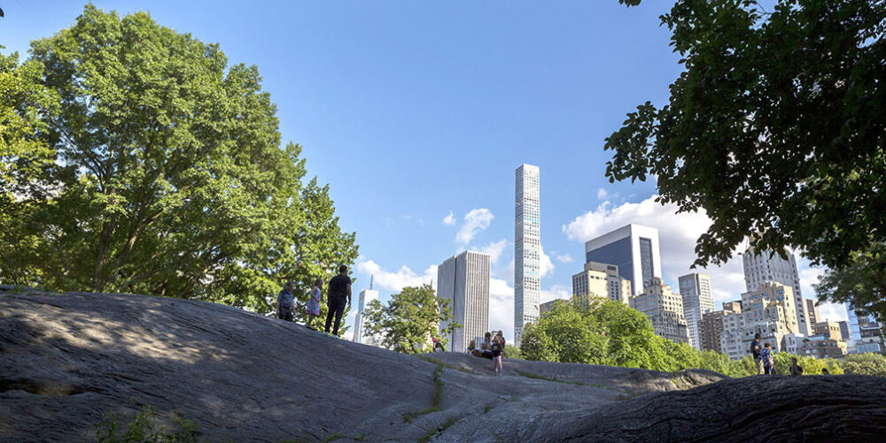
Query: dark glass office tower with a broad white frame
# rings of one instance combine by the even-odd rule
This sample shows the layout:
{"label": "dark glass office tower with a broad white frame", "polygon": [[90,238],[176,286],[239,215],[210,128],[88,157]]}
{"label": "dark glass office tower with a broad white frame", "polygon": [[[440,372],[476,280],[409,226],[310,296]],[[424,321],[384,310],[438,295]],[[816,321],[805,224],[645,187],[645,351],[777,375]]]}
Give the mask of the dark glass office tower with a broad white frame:
{"label": "dark glass office tower with a broad white frame", "polygon": [[585,243],[585,262],[614,264],[618,275],[631,282],[633,294],[641,294],[652,279],[662,277],[658,230],[626,225]]}

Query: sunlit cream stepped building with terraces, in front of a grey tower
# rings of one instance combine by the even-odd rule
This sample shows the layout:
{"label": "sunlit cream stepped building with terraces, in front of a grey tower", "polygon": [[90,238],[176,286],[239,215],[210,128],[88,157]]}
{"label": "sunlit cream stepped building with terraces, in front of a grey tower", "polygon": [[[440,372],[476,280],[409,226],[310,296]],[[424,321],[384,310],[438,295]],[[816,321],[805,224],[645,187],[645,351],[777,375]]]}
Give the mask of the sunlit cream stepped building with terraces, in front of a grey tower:
{"label": "sunlit cream stepped building with terraces, in front of a grey tower", "polygon": [[795,301],[790,286],[773,281],[742,294],[742,313],[723,317],[723,353],[734,360],[748,355],[755,334],[760,334],[761,343],[772,343],[774,352],[784,350],[785,335],[797,334],[799,328]]}

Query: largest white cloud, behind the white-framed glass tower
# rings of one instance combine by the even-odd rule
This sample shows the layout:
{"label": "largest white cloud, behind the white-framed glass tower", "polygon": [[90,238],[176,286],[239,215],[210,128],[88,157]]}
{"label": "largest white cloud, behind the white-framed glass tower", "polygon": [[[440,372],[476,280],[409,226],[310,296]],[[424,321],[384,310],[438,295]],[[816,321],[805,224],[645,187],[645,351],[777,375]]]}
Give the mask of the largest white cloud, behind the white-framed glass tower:
{"label": "largest white cloud, behind the white-framed glass tower", "polygon": [[636,223],[658,229],[658,239],[662,256],[664,281],[676,292],[677,279],[690,272],[707,272],[711,275],[711,291],[718,309],[721,302],[741,298],[745,291],[744,271],[740,257],[734,257],[727,264],[710,266],[707,269],[690,269],[696,260],[696,240],[711,225],[711,219],[704,211],[677,213],[674,204],[662,205],[652,195],[641,202],[626,202],[615,205],[603,202],[595,210],[573,219],[563,225],[563,233],[572,240],[584,243],[592,238],[608,233],[624,225]]}

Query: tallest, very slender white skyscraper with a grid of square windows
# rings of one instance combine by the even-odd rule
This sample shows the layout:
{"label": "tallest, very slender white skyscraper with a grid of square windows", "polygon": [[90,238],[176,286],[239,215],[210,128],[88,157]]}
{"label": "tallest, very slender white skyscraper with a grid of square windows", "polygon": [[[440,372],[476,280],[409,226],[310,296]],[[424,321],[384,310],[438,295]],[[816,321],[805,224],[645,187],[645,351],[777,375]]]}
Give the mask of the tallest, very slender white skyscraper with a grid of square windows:
{"label": "tallest, very slender white skyscraper with a grid of square windows", "polygon": [[517,168],[514,207],[514,344],[527,323],[539,317],[541,296],[541,206],[539,167]]}

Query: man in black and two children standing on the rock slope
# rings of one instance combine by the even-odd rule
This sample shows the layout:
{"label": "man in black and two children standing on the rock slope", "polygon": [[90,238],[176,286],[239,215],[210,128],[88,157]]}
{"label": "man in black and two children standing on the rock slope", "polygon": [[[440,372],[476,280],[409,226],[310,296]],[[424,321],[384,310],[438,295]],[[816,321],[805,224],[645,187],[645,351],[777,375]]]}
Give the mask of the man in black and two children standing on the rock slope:
{"label": "man in black and two children standing on the rock slope", "polygon": [[[277,317],[291,322],[295,318],[295,294],[292,293],[293,283],[286,282],[286,286],[277,294],[276,310]],[[306,326],[316,331],[314,327],[314,318],[320,315],[320,302],[323,299],[323,279],[314,280],[314,288],[305,305],[305,313],[307,314]],[[351,278],[347,276],[347,266],[342,264],[338,266],[338,275],[330,279],[329,296],[326,299],[326,306],[329,312],[326,314],[326,325],[324,332],[338,336],[338,326],[341,325],[341,316],[345,313],[345,308],[351,306]],[[334,323],[334,327],[333,327]]]}

